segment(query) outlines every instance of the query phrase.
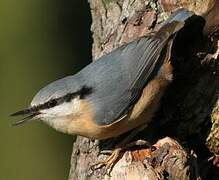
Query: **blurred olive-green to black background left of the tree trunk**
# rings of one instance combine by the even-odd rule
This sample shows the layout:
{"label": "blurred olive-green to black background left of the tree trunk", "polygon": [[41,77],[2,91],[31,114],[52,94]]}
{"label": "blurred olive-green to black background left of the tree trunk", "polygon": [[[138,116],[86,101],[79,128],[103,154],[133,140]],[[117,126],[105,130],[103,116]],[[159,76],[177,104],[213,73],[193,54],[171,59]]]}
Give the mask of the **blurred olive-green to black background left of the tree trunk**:
{"label": "blurred olive-green to black background left of the tree trunk", "polygon": [[0,1],[0,179],[67,179],[73,136],[9,114],[91,61],[90,23],[86,0]]}

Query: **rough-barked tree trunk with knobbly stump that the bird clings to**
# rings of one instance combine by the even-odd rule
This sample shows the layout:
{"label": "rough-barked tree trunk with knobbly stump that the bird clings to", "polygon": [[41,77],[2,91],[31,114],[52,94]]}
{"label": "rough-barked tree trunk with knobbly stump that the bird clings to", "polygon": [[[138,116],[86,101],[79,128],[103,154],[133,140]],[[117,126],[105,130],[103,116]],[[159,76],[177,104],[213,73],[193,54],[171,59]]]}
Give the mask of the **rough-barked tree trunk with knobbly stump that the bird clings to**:
{"label": "rough-barked tree trunk with knobbly stump that the bird clings to", "polygon": [[179,46],[178,54],[172,58],[174,81],[153,122],[135,137],[150,141],[154,148],[134,147],[125,151],[109,176],[104,167],[92,171],[90,166],[107,157],[100,154],[101,150],[112,149],[124,136],[106,141],[78,136],[73,145],[69,180],[218,179],[217,158],[210,158],[219,154],[218,1],[90,0],[89,3],[94,59],[156,30],[179,7],[193,10],[206,19],[207,37],[190,36],[189,45]]}

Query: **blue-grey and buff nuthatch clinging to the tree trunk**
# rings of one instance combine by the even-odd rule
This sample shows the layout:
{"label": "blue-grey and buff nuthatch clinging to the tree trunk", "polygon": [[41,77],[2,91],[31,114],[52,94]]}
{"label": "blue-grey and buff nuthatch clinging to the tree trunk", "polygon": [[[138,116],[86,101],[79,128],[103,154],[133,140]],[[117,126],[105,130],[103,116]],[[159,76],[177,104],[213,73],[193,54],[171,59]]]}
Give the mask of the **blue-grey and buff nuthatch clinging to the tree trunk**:
{"label": "blue-grey and buff nuthatch clinging to the tree trunk", "polygon": [[[74,75],[48,84],[29,107],[12,114],[25,116],[14,125],[39,119],[57,131],[98,140],[148,125],[173,80],[174,38],[193,15],[179,9],[158,31],[112,50]],[[107,163],[112,164],[114,159],[108,158]]]}

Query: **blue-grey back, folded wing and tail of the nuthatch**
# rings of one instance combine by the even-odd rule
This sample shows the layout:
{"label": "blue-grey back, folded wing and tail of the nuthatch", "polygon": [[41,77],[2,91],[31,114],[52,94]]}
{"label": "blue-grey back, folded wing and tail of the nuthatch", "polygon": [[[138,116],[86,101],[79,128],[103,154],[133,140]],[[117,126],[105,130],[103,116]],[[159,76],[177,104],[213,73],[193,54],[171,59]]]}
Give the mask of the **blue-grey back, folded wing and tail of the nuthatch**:
{"label": "blue-grey back, folded wing and tail of the nuthatch", "polygon": [[160,56],[169,38],[190,16],[179,11],[155,35],[125,44],[83,69],[84,83],[94,88],[89,101],[97,124],[112,124],[128,112],[163,64]]}

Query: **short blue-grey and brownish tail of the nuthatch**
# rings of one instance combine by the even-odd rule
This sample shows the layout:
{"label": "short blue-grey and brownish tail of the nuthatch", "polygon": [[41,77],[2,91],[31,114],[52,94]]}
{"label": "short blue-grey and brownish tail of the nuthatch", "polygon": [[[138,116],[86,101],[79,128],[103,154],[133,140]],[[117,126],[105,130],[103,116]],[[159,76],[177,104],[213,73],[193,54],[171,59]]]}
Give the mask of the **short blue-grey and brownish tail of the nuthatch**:
{"label": "short blue-grey and brownish tail of the nuthatch", "polygon": [[[187,9],[179,9],[175,11],[171,16],[161,25],[160,30],[157,33],[159,37],[169,37],[178,32],[185,24],[186,20],[194,15],[193,12]],[[164,36],[166,34],[166,36]]]}

